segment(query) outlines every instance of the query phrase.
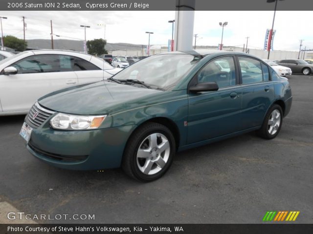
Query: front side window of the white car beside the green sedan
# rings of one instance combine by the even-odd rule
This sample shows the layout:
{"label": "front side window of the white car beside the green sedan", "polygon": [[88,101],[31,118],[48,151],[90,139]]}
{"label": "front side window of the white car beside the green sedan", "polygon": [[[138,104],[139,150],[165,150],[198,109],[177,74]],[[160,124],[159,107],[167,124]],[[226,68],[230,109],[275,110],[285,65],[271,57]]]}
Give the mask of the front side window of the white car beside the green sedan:
{"label": "front side window of the white car beside the green sedan", "polygon": [[68,56],[34,55],[12,64],[18,74],[72,71]]}

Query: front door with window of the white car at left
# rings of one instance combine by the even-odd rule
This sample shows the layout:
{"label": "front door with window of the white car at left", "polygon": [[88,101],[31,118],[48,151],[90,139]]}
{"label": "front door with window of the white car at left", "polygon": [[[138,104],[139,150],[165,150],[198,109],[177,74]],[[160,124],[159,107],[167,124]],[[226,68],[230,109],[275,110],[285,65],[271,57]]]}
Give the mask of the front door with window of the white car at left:
{"label": "front door with window of the white car at left", "polygon": [[69,56],[42,54],[14,62],[16,75],[0,75],[3,112],[28,111],[34,102],[55,90],[77,84]]}

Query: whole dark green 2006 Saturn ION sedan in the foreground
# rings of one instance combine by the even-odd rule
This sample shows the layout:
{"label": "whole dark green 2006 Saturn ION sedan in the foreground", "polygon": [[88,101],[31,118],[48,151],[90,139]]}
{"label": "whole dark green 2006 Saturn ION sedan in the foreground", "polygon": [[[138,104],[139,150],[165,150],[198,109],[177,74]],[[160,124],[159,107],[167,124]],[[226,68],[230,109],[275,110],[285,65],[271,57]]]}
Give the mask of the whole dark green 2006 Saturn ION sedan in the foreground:
{"label": "whole dark green 2006 Saturn ION sedan in the foreground", "polygon": [[251,131],[276,137],[291,101],[288,79],[262,59],[172,52],[39,98],[20,135],[32,155],[53,166],[122,167],[152,181],[178,151]]}

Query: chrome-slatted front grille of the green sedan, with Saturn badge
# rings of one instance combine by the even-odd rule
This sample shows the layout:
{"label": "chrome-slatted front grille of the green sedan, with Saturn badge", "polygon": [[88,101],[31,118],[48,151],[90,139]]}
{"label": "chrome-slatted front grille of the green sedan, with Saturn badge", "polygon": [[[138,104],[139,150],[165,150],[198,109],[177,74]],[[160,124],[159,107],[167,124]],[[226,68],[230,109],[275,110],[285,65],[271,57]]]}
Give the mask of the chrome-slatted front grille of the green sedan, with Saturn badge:
{"label": "chrome-slatted front grille of the green sedan, with Saturn badge", "polygon": [[32,128],[38,128],[53,113],[53,111],[45,109],[36,102],[27,114],[26,123]]}

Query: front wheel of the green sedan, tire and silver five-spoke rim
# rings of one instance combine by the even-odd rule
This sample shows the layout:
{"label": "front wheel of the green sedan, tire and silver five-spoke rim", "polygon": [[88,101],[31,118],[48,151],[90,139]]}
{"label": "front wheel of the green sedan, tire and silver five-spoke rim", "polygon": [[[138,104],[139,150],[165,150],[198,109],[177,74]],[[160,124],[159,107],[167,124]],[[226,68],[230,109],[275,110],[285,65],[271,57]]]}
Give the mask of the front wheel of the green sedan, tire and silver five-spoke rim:
{"label": "front wheel of the green sedan, tire and silver five-spoke rim", "polygon": [[143,182],[163,176],[175,155],[175,139],[162,124],[149,122],[135,130],[122,162],[126,174]]}

